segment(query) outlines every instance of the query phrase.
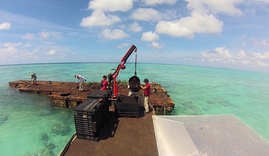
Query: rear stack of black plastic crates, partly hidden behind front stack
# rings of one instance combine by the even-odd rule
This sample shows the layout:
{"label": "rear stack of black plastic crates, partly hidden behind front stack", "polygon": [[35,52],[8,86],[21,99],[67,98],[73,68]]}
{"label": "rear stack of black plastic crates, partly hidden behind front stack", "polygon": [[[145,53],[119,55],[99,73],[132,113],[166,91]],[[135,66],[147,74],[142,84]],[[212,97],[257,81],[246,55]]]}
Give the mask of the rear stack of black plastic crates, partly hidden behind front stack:
{"label": "rear stack of black plastic crates, partly hidden behind front stack", "polygon": [[104,110],[103,115],[105,119],[109,118],[109,98],[110,91],[109,90],[95,90],[87,96],[88,99],[104,99]]}

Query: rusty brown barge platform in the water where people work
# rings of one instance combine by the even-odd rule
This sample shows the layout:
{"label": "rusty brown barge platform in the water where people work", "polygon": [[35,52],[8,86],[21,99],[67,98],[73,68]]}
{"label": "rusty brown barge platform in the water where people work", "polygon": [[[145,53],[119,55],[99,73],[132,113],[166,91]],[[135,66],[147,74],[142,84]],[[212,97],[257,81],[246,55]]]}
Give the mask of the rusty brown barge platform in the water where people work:
{"label": "rusty brown barge platform in the water where people work", "polygon": [[[95,90],[100,90],[100,85],[95,85],[95,83],[91,83],[91,86],[87,86],[86,83],[83,83],[83,92],[76,88],[76,82],[37,81],[36,86],[31,85],[32,81],[30,80],[18,80],[8,83],[11,88],[17,88],[20,92],[48,95],[52,105],[61,105],[65,107],[76,107],[87,99],[87,95]],[[164,108],[165,113],[170,113],[174,109],[174,102],[169,97],[166,97],[165,100],[165,89],[162,88],[160,84],[154,82],[150,84],[151,97],[149,105],[154,108],[157,114],[163,114]],[[155,93],[153,92],[154,88],[158,89]],[[120,95],[128,96],[129,90],[126,85],[119,84],[118,93]],[[143,92],[140,90],[137,94],[143,95]]]}

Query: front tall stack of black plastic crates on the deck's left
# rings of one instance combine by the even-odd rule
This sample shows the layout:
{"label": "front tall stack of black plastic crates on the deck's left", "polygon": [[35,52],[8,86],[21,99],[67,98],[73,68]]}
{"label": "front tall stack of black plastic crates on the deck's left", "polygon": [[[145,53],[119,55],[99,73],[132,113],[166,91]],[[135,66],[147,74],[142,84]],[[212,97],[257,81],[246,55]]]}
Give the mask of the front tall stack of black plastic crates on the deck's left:
{"label": "front tall stack of black plastic crates on the deck's left", "polygon": [[75,127],[78,139],[98,141],[104,128],[104,100],[86,99],[73,109],[77,111],[74,115]]}

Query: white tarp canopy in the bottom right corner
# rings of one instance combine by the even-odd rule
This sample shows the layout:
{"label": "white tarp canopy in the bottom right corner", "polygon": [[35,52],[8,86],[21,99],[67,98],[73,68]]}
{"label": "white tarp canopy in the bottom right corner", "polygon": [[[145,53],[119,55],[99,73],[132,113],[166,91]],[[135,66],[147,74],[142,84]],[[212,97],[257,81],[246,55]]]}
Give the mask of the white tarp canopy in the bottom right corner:
{"label": "white tarp canopy in the bottom right corner", "polygon": [[265,156],[269,142],[234,115],[153,115],[159,156]]}

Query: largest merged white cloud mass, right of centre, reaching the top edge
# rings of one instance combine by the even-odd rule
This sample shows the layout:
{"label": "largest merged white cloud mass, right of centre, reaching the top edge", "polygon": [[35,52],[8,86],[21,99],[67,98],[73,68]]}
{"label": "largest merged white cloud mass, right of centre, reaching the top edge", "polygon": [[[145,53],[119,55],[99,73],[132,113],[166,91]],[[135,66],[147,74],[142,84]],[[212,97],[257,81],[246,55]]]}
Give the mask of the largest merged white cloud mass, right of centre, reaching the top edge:
{"label": "largest merged white cloud mass, right of centre, reaching the top edge", "polygon": [[[185,0],[191,15],[174,21],[160,21],[155,32],[172,37],[194,38],[195,33],[217,34],[222,32],[223,22],[216,18],[217,13],[241,16],[243,13],[235,5],[243,0]],[[150,1],[148,1],[150,2]],[[153,2],[152,2],[153,3]]]}

